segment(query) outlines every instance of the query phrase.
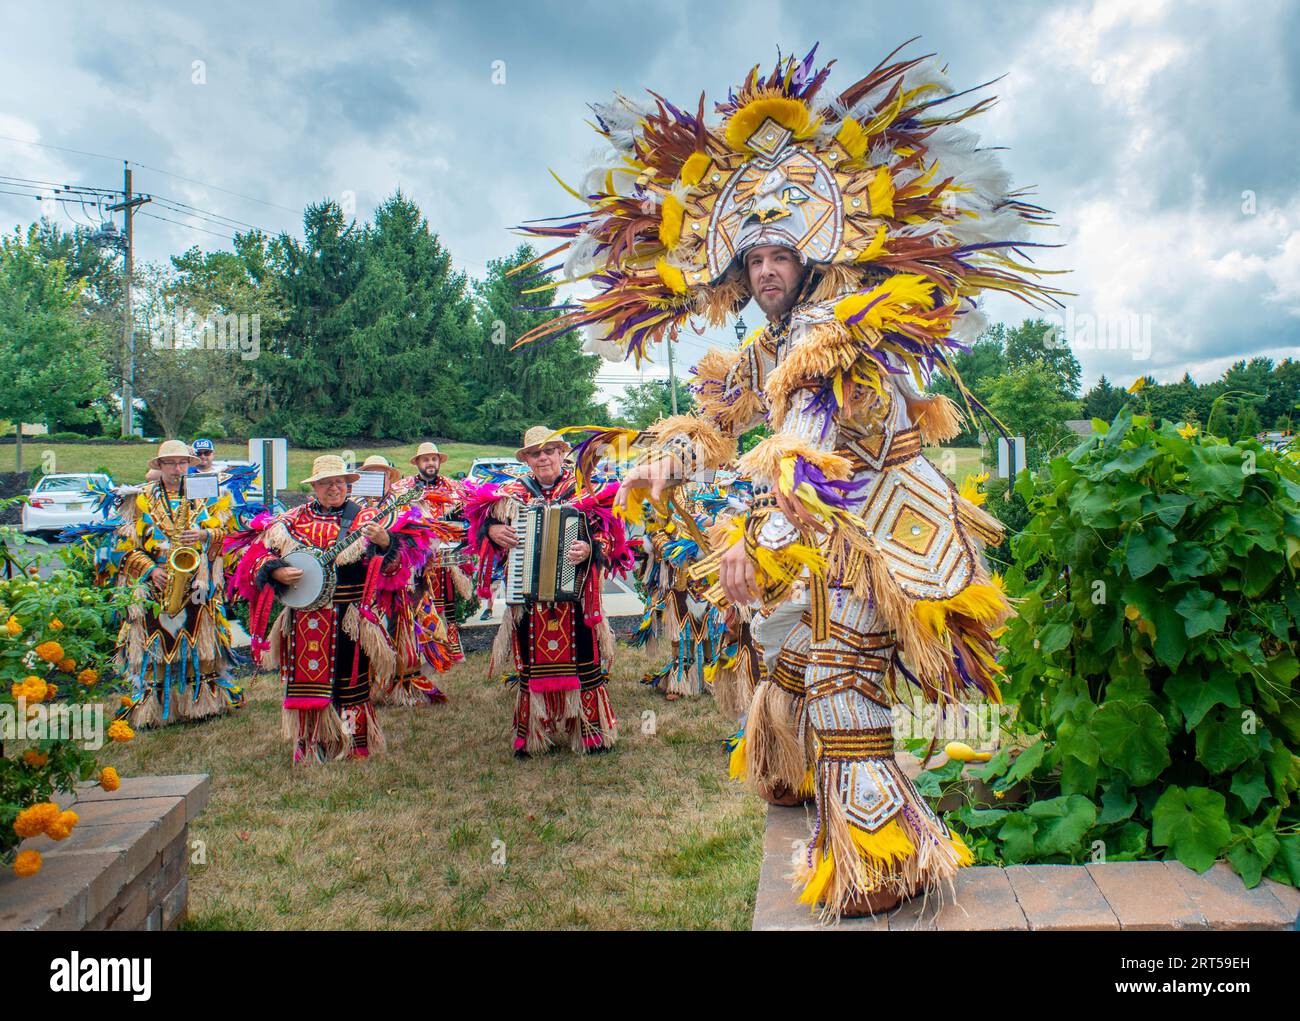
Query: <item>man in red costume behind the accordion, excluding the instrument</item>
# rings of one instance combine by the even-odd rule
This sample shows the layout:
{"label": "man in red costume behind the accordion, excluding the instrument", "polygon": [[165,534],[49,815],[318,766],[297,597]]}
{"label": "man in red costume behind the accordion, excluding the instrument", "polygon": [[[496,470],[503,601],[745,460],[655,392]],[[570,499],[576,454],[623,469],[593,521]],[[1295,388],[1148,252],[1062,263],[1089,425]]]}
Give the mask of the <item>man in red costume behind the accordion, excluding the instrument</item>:
{"label": "man in red costume behind the accordion, excluding the instrument", "polygon": [[612,514],[616,486],[581,490],[571,447],[545,425],[524,434],[516,457],[528,475],[481,486],[467,485],[465,512],[478,542],[478,594],[490,597],[491,572],[517,545],[512,522],[520,505],[572,505],[586,519],[590,542],[576,540],[563,555],[586,566],[580,602],[529,601],[508,606],[493,646],[495,675],[507,650],[515,657],[515,756],[526,758],[560,744],[581,753],[607,752],[619,736],[606,692],[614,633],[601,614],[601,577],[608,566],[630,561],[621,522]]}

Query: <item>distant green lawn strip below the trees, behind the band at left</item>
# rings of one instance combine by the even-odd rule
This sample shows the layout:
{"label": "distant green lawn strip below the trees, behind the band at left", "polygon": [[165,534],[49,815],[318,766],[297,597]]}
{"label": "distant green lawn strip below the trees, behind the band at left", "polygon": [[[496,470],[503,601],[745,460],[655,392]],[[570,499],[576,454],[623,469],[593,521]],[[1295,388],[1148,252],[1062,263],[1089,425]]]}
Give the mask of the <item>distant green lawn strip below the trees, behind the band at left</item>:
{"label": "distant green lawn strip below the trees, behind the band at left", "polygon": [[[394,446],[367,446],[352,450],[356,463],[370,454],[382,454],[404,472],[413,472],[411,455],[419,444]],[[216,442],[217,459],[246,460],[247,444]],[[488,444],[443,444],[439,446],[447,454],[445,471],[468,471],[474,458],[514,457],[515,447],[491,446]],[[107,471],[118,483],[140,483],[148,471],[148,459],[157,453],[152,444],[43,444],[40,437],[31,437],[22,445],[22,467],[31,471],[38,464],[48,472],[94,472]],[[289,447],[289,486],[296,489],[299,480],[311,475],[312,459],[321,454],[338,454],[339,450],[300,450]],[[14,446],[0,445],[0,471],[14,471]]]}

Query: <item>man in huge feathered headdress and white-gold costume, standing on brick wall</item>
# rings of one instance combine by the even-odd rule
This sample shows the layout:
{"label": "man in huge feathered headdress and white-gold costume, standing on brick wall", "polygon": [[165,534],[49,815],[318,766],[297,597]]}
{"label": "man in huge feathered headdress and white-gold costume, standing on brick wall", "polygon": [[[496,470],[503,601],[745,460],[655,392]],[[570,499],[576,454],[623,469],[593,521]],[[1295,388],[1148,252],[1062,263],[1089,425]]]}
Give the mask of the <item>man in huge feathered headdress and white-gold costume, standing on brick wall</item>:
{"label": "man in huge feathered headdress and white-gold costume, standing on brick wall", "polygon": [[998,523],[922,455],[961,428],[924,386],[956,376],[982,290],[1054,294],[1023,264],[1046,211],[958,126],[991,100],[952,109],[935,62],[893,56],[833,99],[812,53],[755,68],[714,124],[703,98],[598,104],[608,159],[575,192],[589,212],[529,228],[563,239],[566,273],[597,293],[524,341],[582,329],[640,359],[693,317],[722,325],[751,298],[767,316],[740,351],[699,359],[697,412],[651,429],[620,499],[636,515],[767,425],[738,460],[751,505],[692,570],[711,601],[762,611],[768,679],[733,774],[772,801],[815,799],[801,899],[829,916],[939,891],[970,862],[890,726],[898,678],[940,705],[997,700],[1010,613],[980,557]]}

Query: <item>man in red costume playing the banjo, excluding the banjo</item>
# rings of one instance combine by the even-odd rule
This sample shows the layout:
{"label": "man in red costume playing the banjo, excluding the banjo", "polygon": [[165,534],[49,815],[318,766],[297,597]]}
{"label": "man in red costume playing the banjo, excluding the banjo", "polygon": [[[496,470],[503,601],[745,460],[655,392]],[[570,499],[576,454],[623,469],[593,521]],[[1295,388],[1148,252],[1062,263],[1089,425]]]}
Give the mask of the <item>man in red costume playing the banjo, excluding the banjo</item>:
{"label": "man in red costume playing the banjo, excluding the banjo", "polygon": [[[252,652],[259,666],[280,667],[285,684],[283,732],[294,741],[294,762],[364,758],[384,749],[370,704],[370,678],[391,679],[395,654],[382,617],[393,593],[411,577],[426,544],[406,529],[408,515],[387,514],[350,501],[359,479],[342,458],[312,463],[313,498],[278,516],[259,515],[250,532],[228,541],[247,546],[233,589],[251,605]],[[334,561],[337,585],[316,610],[285,607],[266,639],[272,602],[302,580],[283,558],[302,549],[328,550],[341,535],[363,533]]]}

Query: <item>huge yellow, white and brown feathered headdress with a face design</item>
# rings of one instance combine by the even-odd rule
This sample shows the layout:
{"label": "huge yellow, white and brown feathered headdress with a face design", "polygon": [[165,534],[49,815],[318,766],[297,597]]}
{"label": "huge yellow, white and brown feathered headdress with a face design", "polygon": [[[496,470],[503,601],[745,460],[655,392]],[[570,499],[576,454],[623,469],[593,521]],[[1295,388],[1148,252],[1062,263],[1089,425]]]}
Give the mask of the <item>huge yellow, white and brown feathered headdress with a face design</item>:
{"label": "huge yellow, white and brown feathered headdress with a face design", "polygon": [[957,103],[967,94],[932,55],[894,60],[900,49],[827,99],[831,64],[815,68],[816,47],[777,57],[714,105],[714,122],[703,96],[694,109],[654,92],[593,105],[607,148],[578,189],[564,185],[586,208],[521,230],[562,241],[528,267],[567,252],[536,271],[545,286],[589,280],[595,293],[554,306],[560,315],[519,343],[582,330],[588,350],[640,362],[692,317],[722,325],[749,300],[738,258],[755,245],[786,245],[819,269],[819,299],[919,277],[933,291],[927,307],[950,307],[966,338],[983,326],[983,290],[1056,303],[1063,291],[1040,284],[1045,271],[1024,254],[1043,247],[1027,234],[1049,211],[1013,191],[996,153],[961,126],[994,99]]}

